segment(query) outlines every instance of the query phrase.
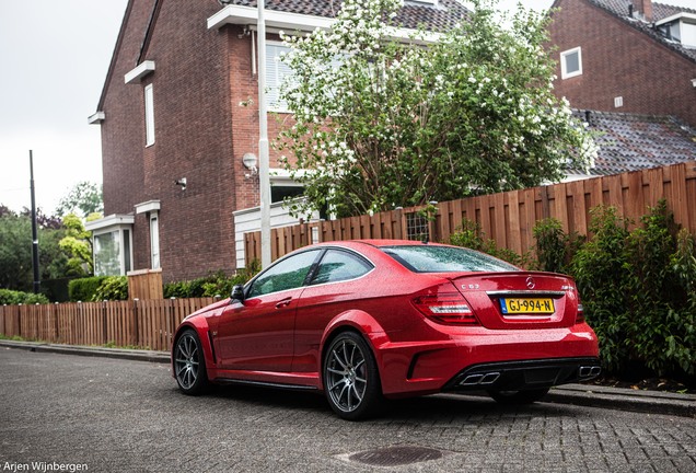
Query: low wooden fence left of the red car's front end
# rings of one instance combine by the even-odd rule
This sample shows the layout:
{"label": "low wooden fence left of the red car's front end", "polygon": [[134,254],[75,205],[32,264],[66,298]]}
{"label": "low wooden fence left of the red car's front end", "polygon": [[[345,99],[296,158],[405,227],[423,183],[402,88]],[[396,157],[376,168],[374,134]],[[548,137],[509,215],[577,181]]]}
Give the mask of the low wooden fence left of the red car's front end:
{"label": "low wooden fence left of the red car's front end", "polygon": [[184,318],[216,299],[0,305],[0,334],[70,345],[169,350]]}

